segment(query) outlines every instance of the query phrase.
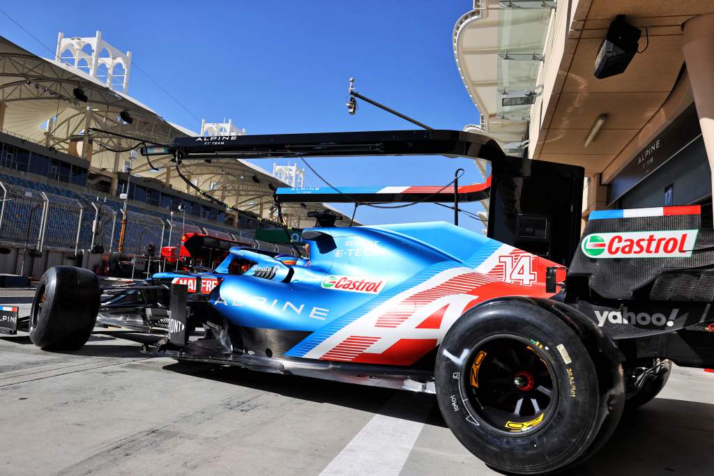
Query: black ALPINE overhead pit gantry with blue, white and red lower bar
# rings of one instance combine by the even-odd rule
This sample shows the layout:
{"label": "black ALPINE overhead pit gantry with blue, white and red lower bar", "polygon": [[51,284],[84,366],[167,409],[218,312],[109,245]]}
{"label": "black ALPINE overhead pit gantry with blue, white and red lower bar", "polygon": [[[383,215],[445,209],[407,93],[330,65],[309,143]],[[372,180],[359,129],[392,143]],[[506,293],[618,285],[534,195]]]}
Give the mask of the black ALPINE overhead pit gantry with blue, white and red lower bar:
{"label": "black ALPINE overhead pit gantry with blue, white and red lower bar", "polygon": [[[143,148],[141,153],[152,151]],[[460,201],[490,198],[488,236],[567,264],[578,249],[584,169],[560,163],[506,156],[496,141],[477,133],[447,130],[364,131],[261,136],[179,137],[156,153],[174,161],[236,158],[360,156],[446,156],[491,162],[491,180],[458,189]],[[432,196],[438,187],[313,188],[278,191],[293,202],[363,201],[453,202],[453,188]]]}

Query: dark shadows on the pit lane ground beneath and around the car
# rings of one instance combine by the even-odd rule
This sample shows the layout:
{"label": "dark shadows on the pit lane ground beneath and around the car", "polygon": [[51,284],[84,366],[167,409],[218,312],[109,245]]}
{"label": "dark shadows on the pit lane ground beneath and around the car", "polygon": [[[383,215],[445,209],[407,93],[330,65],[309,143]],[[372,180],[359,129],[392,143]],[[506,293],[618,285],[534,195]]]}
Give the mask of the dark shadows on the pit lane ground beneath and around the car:
{"label": "dark shadows on the pit lane ground beneath and around the car", "polygon": [[[139,345],[112,343],[104,336],[154,343],[156,335],[124,330],[96,331],[96,341],[73,355],[125,356],[144,355]],[[0,338],[15,343],[29,343],[29,338]],[[409,405],[388,410],[385,403],[395,390],[338,383],[330,380],[259,373],[238,367],[211,363],[176,362],[164,370],[195,378],[253,388],[285,397],[353,408],[406,420],[422,421],[423,413],[411,412]],[[406,393],[408,398],[431,400],[433,407],[426,425],[446,427],[433,395]],[[413,405],[421,407],[423,405]],[[613,437],[600,452],[568,475],[710,475],[714,467],[714,405],[685,400],[657,398],[623,417]]]}

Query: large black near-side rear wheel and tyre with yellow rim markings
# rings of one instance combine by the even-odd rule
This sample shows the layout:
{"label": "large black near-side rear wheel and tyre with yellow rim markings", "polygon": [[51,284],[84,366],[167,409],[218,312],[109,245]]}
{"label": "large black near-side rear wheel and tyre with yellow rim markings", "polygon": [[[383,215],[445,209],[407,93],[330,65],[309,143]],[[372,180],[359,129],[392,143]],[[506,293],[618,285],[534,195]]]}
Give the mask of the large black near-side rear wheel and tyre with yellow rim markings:
{"label": "large black near-side rear wheel and tyre with yellow rim markings", "polygon": [[[564,470],[602,445],[620,418],[614,348],[587,318],[580,323],[563,308],[529,298],[488,301],[461,316],[438,350],[443,417],[498,470]],[[604,354],[613,366],[605,372],[595,364]]]}

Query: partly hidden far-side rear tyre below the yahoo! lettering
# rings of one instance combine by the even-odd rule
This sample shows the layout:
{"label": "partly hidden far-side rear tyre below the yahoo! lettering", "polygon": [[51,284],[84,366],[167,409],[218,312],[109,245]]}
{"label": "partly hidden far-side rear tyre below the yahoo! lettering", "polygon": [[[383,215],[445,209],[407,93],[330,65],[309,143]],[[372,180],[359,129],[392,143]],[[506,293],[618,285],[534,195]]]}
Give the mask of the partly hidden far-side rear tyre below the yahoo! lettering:
{"label": "partly hidden far-side rear tyre below the yahoo! lettering", "polygon": [[672,361],[648,359],[638,362],[633,368],[625,368],[627,381],[627,401],[625,411],[645,405],[665,388],[672,373]]}

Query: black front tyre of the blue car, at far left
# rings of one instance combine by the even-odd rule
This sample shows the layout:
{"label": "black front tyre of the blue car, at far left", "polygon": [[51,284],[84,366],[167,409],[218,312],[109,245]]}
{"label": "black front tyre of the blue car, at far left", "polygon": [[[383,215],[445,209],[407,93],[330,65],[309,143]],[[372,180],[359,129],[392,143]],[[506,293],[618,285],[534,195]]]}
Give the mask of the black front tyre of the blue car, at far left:
{"label": "black front tyre of the blue car, at far left", "polygon": [[46,350],[76,350],[94,329],[101,290],[90,270],[54,266],[40,279],[30,314],[30,340]]}

